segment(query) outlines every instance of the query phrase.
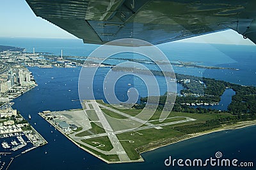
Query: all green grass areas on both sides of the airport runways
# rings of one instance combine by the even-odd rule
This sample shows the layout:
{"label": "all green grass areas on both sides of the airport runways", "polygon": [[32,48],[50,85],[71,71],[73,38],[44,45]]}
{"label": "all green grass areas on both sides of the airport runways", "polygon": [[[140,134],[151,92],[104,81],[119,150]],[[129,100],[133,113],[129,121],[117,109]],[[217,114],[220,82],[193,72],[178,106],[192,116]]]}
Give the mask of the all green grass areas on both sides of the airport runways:
{"label": "all green grass areas on both sides of the airport runways", "polygon": [[[100,104],[104,104],[104,102],[102,102],[101,100],[97,100],[97,102]],[[141,112],[141,110],[139,109],[121,109],[121,108],[113,107],[108,104],[104,104],[104,105],[111,107],[113,109],[116,109],[117,111],[124,112],[125,114],[129,114],[130,116],[136,116]],[[108,109],[103,109],[103,108],[101,109],[105,114],[108,114],[108,116],[111,116],[113,118],[118,118],[118,119],[126,119],[125,116],[117,114],[116,112],[109,111]],[[95,114],[93,110],[89,111],[89,113]],[[156,111],[150,118],[150,123],[154,125],[159,124],[160,115],[161,115],[161,111]],[[95,114],[95,116],[97,115]],[[170,144],[170,143],[179,141],[180,139],[185,139],[186,137],[189,136],[188,134],[182,131],[176,130],[175,128],[177,127],[182,127],[184,125],[195,125],[196,123],[205,123],[205,121],[207,120],[216,120],[218,118],[225,118],[228,116],[232,116],[232,114],[228,114],[224,112],[223,113],[209,112],[204,114],[189,113],[189,112],[170,112],[170,115],[168,115],[168,119],[164,120],[161,123],[186,120],[186,118],[173,118],[175,116],[189,117],[189,118],[195,119],[196,121],[188,121],[186,123],[163,126],[161,129],[148,128],[145,130],[124,132],[122,134],[116,134],[116,136],[120,140],[120,143],[124,147],[124,150],[129,156],[129,158],[131,160],[138,160],[138,158],[140,158],[140,153],[143,151],[147,151],[152,148],[157,148],[165,144]],[[93,118],[93,119],[95,120],[96,118]],[[91,123],[92,129],[90,129],[90,131],[95,134],[104,133],[105,130],[103,128],[98,127],[95,123]],[[83,131],[77,134],[77,136],[84,136],[84,135],[90,135],[90,133],[87,131]],[[109,151],[113,148],[107,136],[96,137],[93,139],[86,139],[86,140],[83,139],[82,141],[84,143],[90,144],[104,151]],[[104,144],[104,146],[99,147],[99,143]],[[92,149],[89,148],[88,150],[92,150]],[[96,154],[99,154],[100,157],[102,158],[106,157],[106,160],[110,160],[110,159],[118,160],[117,155],[103,155],[102,153],[98,153],[97,151],[94,151],[94,150],[92,151]]]}

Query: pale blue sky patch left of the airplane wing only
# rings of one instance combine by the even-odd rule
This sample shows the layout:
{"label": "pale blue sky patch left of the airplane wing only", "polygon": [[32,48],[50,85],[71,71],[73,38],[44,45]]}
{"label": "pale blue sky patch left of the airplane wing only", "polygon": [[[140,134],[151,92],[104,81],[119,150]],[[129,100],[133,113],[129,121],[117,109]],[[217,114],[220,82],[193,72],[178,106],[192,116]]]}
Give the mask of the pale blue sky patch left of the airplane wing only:
{"label": "pale blue sky patch left of the airplane wing only", "polygon": [[1,0],[0,23],[0,36],[76,38],[47,20],[36,17],[25,0]]}

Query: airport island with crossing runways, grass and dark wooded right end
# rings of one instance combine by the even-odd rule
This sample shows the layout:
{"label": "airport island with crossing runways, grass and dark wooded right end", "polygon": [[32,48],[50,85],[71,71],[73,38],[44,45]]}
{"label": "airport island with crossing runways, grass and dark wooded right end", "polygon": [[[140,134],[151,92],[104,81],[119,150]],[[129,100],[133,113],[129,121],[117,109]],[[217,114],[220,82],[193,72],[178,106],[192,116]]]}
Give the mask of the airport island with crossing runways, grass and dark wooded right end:
{"label": "airport island with crossing runways, grass and dark wooded right end", "polygon": [[[166,93],[156,101],[157,111],[150,120],[135,129],[116,130],[116,125],[109,121],[108,116],[120,121],[127,120],[131,124],[142,122],[143,119],[136,116],[145,107],[144,102],[148,98],[141,98],[141,102],[131,109],[125,108],[125,105],[109,105],[102,100],[83,100],[83,109],[44,111],[39,114],[79,148],[109,164],[141,162],[143,157],[140,153],[145,151],[198,135],[256,125],[255,87],[205,77],[175,75],[184,89],[177,96],[170,115],[165,120],[159,119]],[[220,96],[228,88],[236,91],[236,94],[227,111],[200,107],[218,105]],[[150,99],[150,104],[154,104],[152,100],[154,97]],[[194,108],[193,105],[198,107]],[[240,109],[237,109],[237,105]]]}

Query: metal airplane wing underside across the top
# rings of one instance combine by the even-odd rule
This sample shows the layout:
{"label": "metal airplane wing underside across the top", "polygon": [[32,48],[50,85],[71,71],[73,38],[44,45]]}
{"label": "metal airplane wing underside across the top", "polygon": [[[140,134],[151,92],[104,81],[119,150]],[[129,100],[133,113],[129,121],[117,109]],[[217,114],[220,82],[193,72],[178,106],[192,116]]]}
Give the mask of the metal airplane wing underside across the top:
{"label": "metal airplane wing underside across the top", "polygon": [[26,1],[36,16],[84,43],[138,38],[156,45],[225,29],[256,43],[255,0]]}

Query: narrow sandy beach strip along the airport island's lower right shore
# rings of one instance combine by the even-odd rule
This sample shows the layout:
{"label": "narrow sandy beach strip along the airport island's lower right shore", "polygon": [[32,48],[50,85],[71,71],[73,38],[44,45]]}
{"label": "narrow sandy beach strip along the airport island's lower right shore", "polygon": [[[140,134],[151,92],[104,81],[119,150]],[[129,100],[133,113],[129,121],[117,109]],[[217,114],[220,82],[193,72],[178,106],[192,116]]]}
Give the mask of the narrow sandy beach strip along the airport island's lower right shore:
{"label": "narrow sandy beach strip along the airport island's lower right shore", "polygon": [[172,143],[168,143],[168,144],[163,144],[161,146],[156,146],[154,148],[150,148],[148,150],[145,150],[145,151],[141,151],[141,153],[146,153],[148,151],[153,151],[153,150],[157,150],[158,148],[162,148],[164,146],[168,146],[168,145],[171,145],[171,144],[175,144],[175,143],[179,143],[179,142],[182,142],[182,141],[186,141],[188,139],[193,139],[195,137],[200,137],[202,135],[207,135],[207,134],[212,134],[214,132],[221,132],[221,131],[225,131],[225,130],[236,130],[236,129],[240,129],[240,128],[246,128],[246,127],[252,127],[252,126],[255,126],[256,125],[256,120],[252,120],[252,121],[239,121],[233,125],[221,125],[221,127],[219,128],[214,128],[212,130],[207,130],[205,132],[198,132],[198,133],[195,133],[195,134],[187,134],[187,137],[180,137],[180,139],[178,139],[177,141],[174,141]]}

